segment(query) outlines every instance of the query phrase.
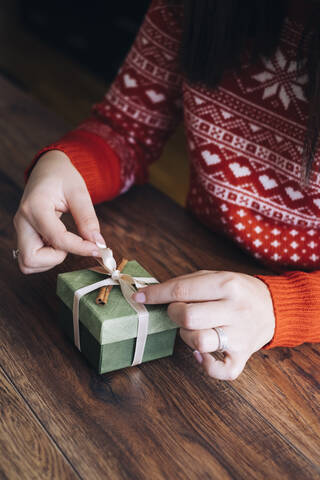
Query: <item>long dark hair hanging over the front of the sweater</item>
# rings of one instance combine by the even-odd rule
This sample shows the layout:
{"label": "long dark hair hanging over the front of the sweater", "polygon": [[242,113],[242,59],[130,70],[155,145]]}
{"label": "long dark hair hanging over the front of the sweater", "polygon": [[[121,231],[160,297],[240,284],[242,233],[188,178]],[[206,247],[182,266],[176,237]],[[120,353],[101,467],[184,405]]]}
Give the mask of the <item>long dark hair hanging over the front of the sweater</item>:
{"label": "long dark hair hanging over the front of the sweater", "polygon": [[[292,0],[183,0],[181,67],[188,80],[210,88],[241,67],[245,48],[255,62],[271,56]],[[306,0],[301,0],[306,1]],[[302,154],[302,181],[308,181],[320,132],[320,2],[312,4],[297,49],[297,75],[308,74],[309,113]]]}

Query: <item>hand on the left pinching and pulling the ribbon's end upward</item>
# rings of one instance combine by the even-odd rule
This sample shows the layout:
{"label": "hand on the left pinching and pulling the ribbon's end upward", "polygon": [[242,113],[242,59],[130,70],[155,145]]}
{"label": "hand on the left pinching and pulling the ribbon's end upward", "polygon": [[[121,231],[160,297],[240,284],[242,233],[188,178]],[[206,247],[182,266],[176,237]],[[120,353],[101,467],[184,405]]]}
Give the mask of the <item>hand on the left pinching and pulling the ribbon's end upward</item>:
{"label": "hand on the left pinching and pulling the ribbon's end upward", "polygon": [[[70,211],[79,235],[68,232],[60,217]],[[98,256],[105,245],[86,184],[68,156],[51,150],[33,168],[13,220],[18,262],[23,273],[43,272],[68,253]]]}

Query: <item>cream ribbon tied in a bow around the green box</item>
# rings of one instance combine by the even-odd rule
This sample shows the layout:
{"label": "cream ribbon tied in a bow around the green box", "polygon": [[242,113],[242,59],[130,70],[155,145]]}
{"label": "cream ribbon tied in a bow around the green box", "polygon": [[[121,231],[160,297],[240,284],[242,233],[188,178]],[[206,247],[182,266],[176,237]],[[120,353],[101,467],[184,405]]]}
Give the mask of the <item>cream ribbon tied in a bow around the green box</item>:
{"label": "cream ribbon tied in a bow around the green box", "polygon": [[103,275],[107,275],[107,278],[100,280],[99,282],[92,283],[86,287],[79,288],[74,292],[73,298],[73,333],[74,343],[76,347],[81,351],[80,346],[80,331],[79,331],[79,304],[83,295],[92,292],[98,288],[107,285],[119,285],[121,292],[129,305],[138,314],[138,332],[136,348],[134,358],[131,366],[138,365],[142,362],[145,344],[148,336],[149,325],[149,312],[142,303],[137,303],[132,299],[132,295],[136,292],[136,288],[145,287],[150,283],[158,283],[153,277],[132,277],[125,273],[121,273],[117,270],[117,264],[113,257],[112,250],[110,248],[99,247],[102,261],[97,259],[100,267],[93,267],[92,270]]}

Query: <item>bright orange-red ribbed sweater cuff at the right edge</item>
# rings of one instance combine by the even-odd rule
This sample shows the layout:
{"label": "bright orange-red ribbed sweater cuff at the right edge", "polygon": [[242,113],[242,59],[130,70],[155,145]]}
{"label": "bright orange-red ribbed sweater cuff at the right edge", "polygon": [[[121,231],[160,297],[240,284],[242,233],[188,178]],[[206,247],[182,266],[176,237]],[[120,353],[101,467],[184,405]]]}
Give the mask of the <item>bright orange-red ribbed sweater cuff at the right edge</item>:
{"label": "bright orange-red ribbed sweater cuff at the right edge", "polygon": [[256,277],[269,288],[276,318],[274,336],[264,348],[320,342],[320,271]]}

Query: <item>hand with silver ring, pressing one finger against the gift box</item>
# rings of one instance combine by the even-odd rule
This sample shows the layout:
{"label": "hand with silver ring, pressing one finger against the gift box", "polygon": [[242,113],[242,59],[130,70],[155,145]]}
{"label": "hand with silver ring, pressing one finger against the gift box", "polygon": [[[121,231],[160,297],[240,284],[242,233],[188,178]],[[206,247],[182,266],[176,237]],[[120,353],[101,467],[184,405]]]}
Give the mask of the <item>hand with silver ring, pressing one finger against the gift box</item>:
{"label": "hand with silver ring, pressing one finger against the gift box", "polygon": [[[139,289],[133,297],[146,304],[169,303],[168,314],[180,326],[184,342],[211,377],[236,379],[250,356],[273,337],[275,317],[268,287],[243,273],[201,270]],[[210,352],[226,340],[224,360]]]}

